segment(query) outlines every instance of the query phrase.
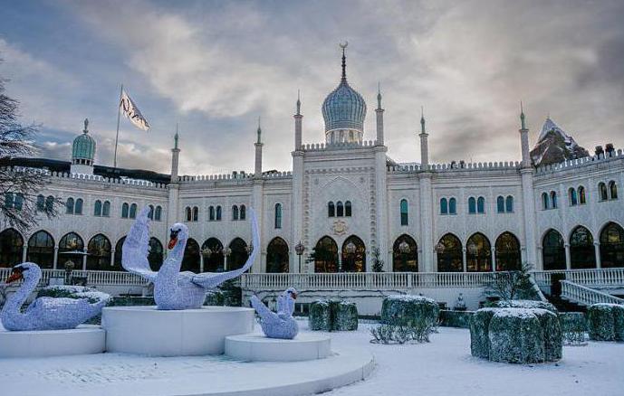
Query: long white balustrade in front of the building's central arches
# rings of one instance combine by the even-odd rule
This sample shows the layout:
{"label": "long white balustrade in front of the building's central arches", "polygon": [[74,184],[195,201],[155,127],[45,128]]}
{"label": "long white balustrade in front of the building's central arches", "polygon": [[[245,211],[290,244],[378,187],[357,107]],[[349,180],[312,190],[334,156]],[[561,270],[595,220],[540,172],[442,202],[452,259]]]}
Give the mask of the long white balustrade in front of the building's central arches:
{"label": "long white balustrade in front of the building's central arches", "polygon": [[491,272],[341,272],[330,274],[244,274],[248,289],[482,288]]}

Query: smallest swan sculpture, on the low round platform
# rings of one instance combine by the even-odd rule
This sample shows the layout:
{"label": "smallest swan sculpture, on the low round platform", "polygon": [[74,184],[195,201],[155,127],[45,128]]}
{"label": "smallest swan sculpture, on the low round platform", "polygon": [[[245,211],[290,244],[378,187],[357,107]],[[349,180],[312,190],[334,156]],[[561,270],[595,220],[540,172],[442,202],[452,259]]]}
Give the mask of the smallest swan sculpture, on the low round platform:
{"label": "smallest swan sculpture, on the low round platform", "polygon": [[252,306],[260,316],[260,326],[264,335],[286,340],[292,340],[297,336],[299,325],[293,317],[295,299],[297,299],[297,290],[287,288],[280,297],[277,297],[277,313],[274,313],[260,301],[260,298],[251,297]]}

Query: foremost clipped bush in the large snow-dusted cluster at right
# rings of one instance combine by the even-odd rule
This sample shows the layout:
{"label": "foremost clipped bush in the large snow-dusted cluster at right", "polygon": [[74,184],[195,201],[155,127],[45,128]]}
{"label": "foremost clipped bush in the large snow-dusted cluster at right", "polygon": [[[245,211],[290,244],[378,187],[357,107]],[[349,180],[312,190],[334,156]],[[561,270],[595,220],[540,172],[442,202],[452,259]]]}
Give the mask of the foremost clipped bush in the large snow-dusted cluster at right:
{"label": "foremost clipped bush in the large snow-dusted cluster at right", "polygon": [[533,309],[496,309],[488,329],[490,357],[494,362],[540,363],[544,361],[544,338]]}

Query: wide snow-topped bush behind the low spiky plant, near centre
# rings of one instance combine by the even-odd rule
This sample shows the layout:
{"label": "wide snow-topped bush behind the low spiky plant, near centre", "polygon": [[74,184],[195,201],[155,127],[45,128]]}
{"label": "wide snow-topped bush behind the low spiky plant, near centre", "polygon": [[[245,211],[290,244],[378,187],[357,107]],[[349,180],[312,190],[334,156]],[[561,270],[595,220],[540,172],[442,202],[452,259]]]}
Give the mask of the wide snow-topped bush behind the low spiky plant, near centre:
{"label": "wide snow-topped bush behind the low spiky plant, near centre", "polygon": [[381,322],[387,325],[423,319],[435,329],[439,314],[437,302],[422,296],[389,296],[381,304]]}

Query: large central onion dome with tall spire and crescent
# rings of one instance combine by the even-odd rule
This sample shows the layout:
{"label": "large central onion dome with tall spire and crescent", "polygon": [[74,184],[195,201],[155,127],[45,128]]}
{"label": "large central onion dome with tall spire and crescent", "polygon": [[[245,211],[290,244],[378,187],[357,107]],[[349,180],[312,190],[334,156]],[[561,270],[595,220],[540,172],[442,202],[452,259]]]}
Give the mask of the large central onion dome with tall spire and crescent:
{"label": "large central onion dome with tall spire and crescent", "polygon": [[344,54],[346,46],[346,44],[341,44],[341,83],[335,90],[331,91],[322,104],[322,117],[325,120],[325,134],[328,143],[361,141],[364,133],[366,103],[360,93],[353,90],[347,82]]}

